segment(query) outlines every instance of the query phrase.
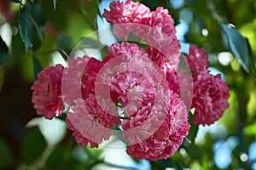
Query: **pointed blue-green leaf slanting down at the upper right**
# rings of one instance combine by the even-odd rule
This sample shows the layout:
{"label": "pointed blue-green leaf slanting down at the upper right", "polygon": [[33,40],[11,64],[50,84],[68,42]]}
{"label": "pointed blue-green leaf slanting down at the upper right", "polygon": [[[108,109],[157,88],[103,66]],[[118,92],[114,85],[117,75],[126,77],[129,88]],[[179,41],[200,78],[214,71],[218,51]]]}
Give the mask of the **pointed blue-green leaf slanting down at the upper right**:
{"label": "pointed blue-green leaf slanting down at the upper right", "polygon": [[243,69],[249,72],[249,52],[246,38],[242,37],[241,33],[232,26],[223,23],[220,23],[219,26],[224,33],[224,38],[227,39],[230,52],[236,56]]}

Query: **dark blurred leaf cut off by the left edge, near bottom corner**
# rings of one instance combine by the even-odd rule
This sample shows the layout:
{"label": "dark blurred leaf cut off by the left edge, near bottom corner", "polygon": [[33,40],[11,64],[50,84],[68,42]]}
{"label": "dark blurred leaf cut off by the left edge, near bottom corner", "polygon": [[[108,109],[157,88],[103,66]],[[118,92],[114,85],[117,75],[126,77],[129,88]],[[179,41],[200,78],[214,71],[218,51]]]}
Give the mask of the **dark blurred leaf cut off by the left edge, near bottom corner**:
{"label": "dark blurred leaf cut off by the left edge, near bottom corner", "polygon": [[2,138],[0,138],[0,153],[0,168],[10,167],[14,163],[13,156],[8,144]]}

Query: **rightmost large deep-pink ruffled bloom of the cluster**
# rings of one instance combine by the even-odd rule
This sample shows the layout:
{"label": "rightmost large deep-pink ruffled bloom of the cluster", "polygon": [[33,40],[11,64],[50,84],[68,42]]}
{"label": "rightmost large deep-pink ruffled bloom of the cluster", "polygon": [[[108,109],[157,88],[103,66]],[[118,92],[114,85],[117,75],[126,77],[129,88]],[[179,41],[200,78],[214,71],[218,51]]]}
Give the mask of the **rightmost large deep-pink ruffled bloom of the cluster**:
{"label": "rightmost large deep-pink ruffled bloom of the cluster", "polygon": [[229,107],[229,88],[220,75],[199,74],[194,84],[192,108],[195,107],[193,122],[210,125],[223,116]]}

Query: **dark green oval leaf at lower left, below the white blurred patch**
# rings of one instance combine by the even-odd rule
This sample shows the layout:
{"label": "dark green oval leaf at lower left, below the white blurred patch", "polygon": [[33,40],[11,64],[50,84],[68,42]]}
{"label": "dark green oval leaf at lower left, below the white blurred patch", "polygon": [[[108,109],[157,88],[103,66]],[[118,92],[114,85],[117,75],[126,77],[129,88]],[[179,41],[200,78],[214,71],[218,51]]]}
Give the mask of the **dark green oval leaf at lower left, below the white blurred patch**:
{"label": "dark green oval leaf at lower left, below the white blurred patch", "polygon": [[45,148],[46,143],[38,127],[27,129],[22,144],[22,160],[27,165],[31,164],[43,154]]}

